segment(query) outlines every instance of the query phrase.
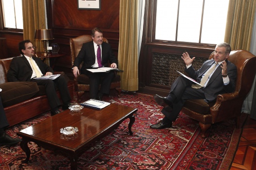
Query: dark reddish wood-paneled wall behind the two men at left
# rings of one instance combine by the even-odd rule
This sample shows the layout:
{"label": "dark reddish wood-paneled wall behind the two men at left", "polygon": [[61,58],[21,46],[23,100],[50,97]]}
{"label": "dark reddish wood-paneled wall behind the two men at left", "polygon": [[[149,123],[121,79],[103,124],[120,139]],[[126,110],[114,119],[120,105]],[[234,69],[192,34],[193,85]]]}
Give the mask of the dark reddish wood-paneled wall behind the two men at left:
{"label": "dark reddish wood-paneled wall behind the two men at left", "polygon": [[[48,28],[53,29],[54,40],[64,57],[57,58],[54,70],[64,71],[72,78],[69,38],[91,34],[95,27],[102,29],[114,54],[118,55],[119,7],[120,0],[101,0],[101,10],[79,10],[78,0],[46,0]],[[8,57],[19,56],[18,42],[23,40],[22,33],[0,32],[6,38]]]}

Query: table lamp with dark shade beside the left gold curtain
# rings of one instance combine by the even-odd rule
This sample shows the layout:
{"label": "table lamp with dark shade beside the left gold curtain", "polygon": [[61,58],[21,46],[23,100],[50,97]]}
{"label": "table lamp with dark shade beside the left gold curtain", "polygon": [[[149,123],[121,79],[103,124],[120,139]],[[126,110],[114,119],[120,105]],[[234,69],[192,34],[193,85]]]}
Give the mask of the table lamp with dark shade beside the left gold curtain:
{"label": "table lamp with dark shade beside the left gold curtain", "polygon": [[41,40],[44,43],[44,52],[42,52],[42,56],[47,56],[46,45],[48,40],[53,39],[52,29],[36,29],[34,39]]}

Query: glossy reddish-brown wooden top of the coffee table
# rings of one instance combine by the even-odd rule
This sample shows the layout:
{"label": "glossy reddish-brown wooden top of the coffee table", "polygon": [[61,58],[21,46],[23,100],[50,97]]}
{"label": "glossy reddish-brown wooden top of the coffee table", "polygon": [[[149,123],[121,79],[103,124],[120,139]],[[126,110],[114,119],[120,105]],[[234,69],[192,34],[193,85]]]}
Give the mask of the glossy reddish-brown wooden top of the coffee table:
{"label": "glossy reddish-brown wooden top of the coffee table", "polygon": [[[88,107],[80,112],[66,110],[19,131],[17,135],[28,138],[29,141],[51,143],[55,147],[75,151],[81,145],[100,138],[104,131],[116,128],[136,112],[135,108],[114,103],[101,110]],[[60,133],[60,129],[65,127],[76,127],[79,131],[74,135],[64,135]]]}

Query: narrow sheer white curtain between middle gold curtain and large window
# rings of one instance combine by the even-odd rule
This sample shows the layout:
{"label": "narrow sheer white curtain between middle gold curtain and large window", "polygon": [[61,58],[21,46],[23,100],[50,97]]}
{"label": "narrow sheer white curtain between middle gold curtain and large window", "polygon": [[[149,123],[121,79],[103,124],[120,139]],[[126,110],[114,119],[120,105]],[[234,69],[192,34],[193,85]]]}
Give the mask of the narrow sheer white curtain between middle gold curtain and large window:
{"label": "narrow sheer white curtain between middle gold curtain and large window", "polygon": [[144,24],[144,8],[145,0],[138,0],[138,62],[141,52],[141,42],[143,34],[143,24]]}

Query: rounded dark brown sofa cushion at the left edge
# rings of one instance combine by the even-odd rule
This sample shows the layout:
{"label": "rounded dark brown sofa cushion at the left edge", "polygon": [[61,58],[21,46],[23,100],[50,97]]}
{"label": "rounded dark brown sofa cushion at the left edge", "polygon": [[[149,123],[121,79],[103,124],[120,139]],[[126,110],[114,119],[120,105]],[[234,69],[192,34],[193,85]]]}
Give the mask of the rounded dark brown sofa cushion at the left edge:
{"label": "rounded dark brown sofa cushion at the left edge", "polygon": [[31,99],[39,88],[35,82],[8,82],[0,84],[3,107]]}

